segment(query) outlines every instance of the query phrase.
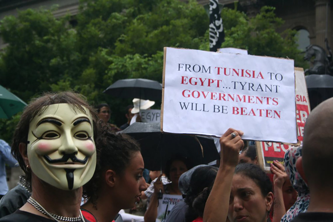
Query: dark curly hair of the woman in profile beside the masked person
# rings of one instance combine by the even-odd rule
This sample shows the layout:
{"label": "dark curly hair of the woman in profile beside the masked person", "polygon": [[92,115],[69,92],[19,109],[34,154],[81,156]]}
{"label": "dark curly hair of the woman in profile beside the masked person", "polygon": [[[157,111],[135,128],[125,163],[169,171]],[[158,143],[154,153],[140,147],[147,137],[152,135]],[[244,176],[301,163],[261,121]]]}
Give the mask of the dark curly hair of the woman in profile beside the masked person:
{"label": "dark curly hair of the woman in profile beside the masked person", "polygon": [[127,134],[115,134],[108,126],[96,138],[97,162],[93,177],[83,185],[83,197],[89,198],[95,209],[98,200],[98,190],[104,181],[104,173],[108,169],[117,174],[123,174],[130,164],[133,155],[140,152],[139,144]]}

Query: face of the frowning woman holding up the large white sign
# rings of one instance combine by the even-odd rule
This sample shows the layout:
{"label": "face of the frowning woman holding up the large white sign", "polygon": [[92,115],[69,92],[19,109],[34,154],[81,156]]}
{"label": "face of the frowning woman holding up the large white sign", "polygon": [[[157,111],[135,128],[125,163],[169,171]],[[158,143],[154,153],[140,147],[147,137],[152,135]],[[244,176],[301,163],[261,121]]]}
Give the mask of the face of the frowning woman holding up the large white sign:
{"label": "face of the frowning woman holding up the large white sign", "polygon": [[242,174],[233,176],[228,210],[231,222],[266,222],[272,203],[272,192],[264,197],[252,179]]}

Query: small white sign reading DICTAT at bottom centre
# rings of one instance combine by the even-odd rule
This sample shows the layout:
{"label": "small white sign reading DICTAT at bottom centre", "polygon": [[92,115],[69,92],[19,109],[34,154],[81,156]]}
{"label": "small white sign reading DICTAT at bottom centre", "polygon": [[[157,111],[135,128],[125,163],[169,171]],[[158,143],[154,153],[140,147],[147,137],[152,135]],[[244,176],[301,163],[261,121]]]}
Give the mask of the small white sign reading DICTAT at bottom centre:
{"label": "small white sign reading DICTAT at bottom centre", "polygon": [[159,199],[156,222],[165,221],[166,216],[170,213],[170,210],[179,201],[182,201],[181,195],[163,194],[163,198]]}

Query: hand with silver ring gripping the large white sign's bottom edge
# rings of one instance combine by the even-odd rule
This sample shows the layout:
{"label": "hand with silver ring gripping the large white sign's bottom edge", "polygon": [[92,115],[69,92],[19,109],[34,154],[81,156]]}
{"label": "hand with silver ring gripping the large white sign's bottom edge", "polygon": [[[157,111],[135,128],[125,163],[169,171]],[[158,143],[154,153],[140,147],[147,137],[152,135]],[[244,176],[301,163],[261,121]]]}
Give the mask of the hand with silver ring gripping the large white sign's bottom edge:
{"label": "hand with silver ring gripping the large white sign's bottom edge", "polygon": [[240,130],[228,128],[221,136],[221,166],[236,166],[238,164],[239,151],[244,146],[240,137],[243,134]]}

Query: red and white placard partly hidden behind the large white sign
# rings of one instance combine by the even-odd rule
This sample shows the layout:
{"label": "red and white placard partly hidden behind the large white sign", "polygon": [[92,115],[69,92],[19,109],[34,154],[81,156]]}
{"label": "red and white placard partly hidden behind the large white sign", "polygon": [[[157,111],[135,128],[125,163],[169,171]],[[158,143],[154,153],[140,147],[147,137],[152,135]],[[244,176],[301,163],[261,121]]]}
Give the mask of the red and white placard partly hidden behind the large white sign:
{"label": "red and white placard partly hidden behind the large white sign", "polygon": [[[309,97],[306,88],[304,71],[302,68],[295,68],[295,83],[297,137],[298,140],[302,142],[305,121],[310,113]],[[280,129],[283,128],[283,126],[280,127]],[[286,130],[288,130],[288,128],[286,128]],[[284,164],[284,153],[291,147],[291,145],[277,142],[256,141],[256,147],[260,166],[269,171],[270,164],[273,163],[273,160],[278,160]]]}

